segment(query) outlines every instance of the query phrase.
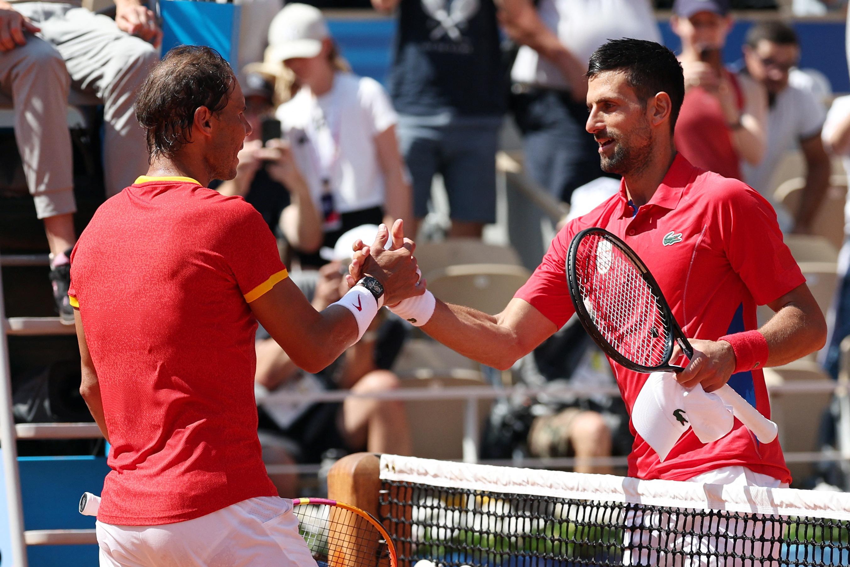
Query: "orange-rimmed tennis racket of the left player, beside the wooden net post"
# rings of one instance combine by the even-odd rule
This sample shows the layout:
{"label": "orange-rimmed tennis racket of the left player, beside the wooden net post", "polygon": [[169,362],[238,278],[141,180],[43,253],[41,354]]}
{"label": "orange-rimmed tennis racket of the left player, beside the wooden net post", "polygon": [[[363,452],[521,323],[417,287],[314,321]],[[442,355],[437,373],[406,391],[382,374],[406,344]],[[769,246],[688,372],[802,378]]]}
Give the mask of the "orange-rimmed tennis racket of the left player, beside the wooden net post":
{"label": "orange-rimmed tennis racket of the left player, beside the wooden net post", "polygon": [[[96,516],[100,496],[85,492],[80,513]],[[387,530],[370,513],[326,498],[295,498],[298,533],[319,567],[398,567]]]}

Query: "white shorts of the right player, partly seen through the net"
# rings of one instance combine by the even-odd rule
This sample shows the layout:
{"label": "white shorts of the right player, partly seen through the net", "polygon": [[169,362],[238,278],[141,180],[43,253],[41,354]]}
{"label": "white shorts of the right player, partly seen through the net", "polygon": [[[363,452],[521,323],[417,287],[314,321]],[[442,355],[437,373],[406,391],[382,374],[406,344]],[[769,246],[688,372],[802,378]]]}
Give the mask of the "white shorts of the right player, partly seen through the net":
{"label": "white shorts of the right player, partly seen through the net", "polygon": [[[762,486],[788,488],[767,474],[753,473],[745,467],[723,467],[698,474],[689,482],[709,485]],[[624,531],[624,565],[657,565],[658,567],[743,567],[743,558],[723,558],[723,553],[741,557],[779,558],[779,541],[758,541],[763,538],[779,539],[782,524],[746,521],[747,514],[729,514],[698,511],[667,513],[659,511],[630,510],[626,513],[626,526],[639,526],[637,533]],[[759,517],[753,515],[753,517]],[[774,533],[775,532],[775,533]],[[750,539],[747,539],[750,538]],[[753,539],[755,538],[755,539]],[[664,550],[659,553],[659,550]],[[666,552],[666,553],[665,553]],[[749,559],[747,565],[753,564]],[[757,565],[762,563],[756,562]],[[765,561],[764,567],[778,567],[777,561]]]}

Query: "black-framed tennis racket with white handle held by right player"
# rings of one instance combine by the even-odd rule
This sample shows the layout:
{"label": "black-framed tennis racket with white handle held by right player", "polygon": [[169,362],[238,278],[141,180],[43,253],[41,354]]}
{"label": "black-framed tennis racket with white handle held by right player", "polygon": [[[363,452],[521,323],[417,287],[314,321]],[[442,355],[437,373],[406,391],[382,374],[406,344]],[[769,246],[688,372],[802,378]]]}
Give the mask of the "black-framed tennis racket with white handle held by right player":
{"label": "black-framed tennis racket with white handle held by right player", "polygon": [[[638,254],[609,231],[582,230],[570,243],[567,284],[581,325],[611,359],[636,372],[681,372],[670,364],[675,344],[694,349],[673,317],[661,288]],[[762,443],[776,439],[776,423],[762,416],[728,384],[713,394]]]}

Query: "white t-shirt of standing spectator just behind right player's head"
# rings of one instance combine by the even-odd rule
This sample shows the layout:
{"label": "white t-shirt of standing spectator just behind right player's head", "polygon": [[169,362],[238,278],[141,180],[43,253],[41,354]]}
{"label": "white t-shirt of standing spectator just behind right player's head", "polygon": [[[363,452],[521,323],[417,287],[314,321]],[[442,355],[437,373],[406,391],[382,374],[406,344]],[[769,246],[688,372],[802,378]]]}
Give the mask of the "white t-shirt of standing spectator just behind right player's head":
{"label": "white t-shirt of standing spectator just behind right player's head", "polygon": [[[647,39],[661,43],[649,0],[541,0],[537,14],[582,63],[609,39]],[[547,88],[570,88],[558,67],[524,45],[511,79]]]}

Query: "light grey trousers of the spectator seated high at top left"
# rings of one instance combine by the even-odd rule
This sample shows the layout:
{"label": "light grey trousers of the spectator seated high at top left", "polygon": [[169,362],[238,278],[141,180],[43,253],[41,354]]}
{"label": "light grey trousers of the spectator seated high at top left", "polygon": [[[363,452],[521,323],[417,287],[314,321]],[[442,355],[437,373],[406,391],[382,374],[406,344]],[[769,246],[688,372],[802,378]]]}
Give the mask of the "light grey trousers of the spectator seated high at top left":
{"label": "light grey trousers of the spectator seated high at top left", "polygon": [[0,90],[14,101],[14,133],[38,218],[74,213],[69,89],[104,105],[107,196],[147,171],[144,133],[133,114],[136,93],[156,49],[120,31],[104,15],[71,4],[26,2],[13,8],[40,27],[26,45],[0,53]]}

